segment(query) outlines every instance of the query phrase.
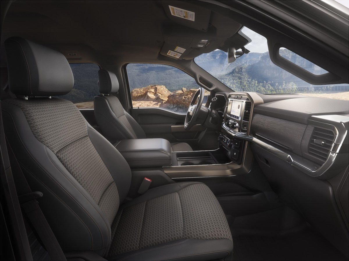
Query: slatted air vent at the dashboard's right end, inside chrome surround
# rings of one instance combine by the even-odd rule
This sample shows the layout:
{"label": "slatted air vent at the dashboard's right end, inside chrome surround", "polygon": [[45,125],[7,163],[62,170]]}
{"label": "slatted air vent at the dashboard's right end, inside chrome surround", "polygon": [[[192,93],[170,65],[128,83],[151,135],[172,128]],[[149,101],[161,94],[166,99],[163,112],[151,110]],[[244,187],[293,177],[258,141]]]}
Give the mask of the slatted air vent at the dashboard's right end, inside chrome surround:
{"label": "slatted air vent at the dashboard's right end, inside chrome surround", "polygon": [[332,130],[315,127],[310,137],[308,152],[311,156],[325,163],[334,141]]}

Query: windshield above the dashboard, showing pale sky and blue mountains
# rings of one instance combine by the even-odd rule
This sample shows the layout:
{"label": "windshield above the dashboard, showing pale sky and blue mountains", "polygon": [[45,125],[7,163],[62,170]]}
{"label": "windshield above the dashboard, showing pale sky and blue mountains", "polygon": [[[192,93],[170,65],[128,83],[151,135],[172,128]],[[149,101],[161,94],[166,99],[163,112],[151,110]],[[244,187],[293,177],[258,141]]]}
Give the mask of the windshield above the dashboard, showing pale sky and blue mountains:
{"label": "windshield above the dashboard, showing pale sky and blue mountains", "polygon": [[[250,53],[228,64],[228,53],[217,49],[196,57],[194,62],[236,92],[303,94],[349,100],[349,84],[311,85],[270,60],[265,37],[247,27],[243,27],[240,32],[252,40],[245,46]],[[288,49],[282,48],[279,52],[282,57],[313,74],[327,73]]]}

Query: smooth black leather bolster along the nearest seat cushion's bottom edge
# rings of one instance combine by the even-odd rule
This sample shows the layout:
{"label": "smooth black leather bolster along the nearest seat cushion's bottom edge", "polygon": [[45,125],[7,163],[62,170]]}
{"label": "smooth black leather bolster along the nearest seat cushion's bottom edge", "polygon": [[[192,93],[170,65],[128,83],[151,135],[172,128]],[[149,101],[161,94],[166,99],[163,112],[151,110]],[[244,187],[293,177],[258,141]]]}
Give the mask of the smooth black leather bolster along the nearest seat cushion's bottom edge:
{"label": "smooth black leather bolster along the nearest seat cushion's bottom edge", "polygon": [[132,251],[108,260],[232,260],[229,239],[181,239]]}

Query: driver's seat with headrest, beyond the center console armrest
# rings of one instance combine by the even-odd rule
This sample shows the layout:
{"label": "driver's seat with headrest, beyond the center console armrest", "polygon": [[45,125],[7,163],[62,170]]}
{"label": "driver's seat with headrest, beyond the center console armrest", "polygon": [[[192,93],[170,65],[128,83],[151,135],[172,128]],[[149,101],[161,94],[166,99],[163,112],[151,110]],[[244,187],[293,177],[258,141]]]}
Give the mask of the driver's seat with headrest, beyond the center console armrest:
{"label": "driver's seat with headrest, beyond the center console armrest", "polygon": [[[95,118],[103,135],[110,141],[145,139],[142,127],[122,107],[119,99],[110,95],[119,90],[119,81],[110,71],[98,71],[99,93],[94,100]],[[193,151],[188,143],[171,143],[172,151]]]}

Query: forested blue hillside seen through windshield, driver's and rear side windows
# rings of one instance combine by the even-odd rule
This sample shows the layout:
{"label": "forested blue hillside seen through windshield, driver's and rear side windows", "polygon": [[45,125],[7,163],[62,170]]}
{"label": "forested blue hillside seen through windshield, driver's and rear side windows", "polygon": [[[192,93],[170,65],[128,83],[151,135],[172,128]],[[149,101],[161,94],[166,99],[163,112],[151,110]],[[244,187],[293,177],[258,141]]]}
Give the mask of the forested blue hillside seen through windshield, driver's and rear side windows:
{"label": "forested blue hillside seen through windshield, driver's and rear side windows", "polygon": [[[280,55],[314,74],[325,70],[292,53],[280,50]],[[349,85],[311,86],[270,61],[269,53],[248,53],[228,64],[227,53],[216,50],[194,59],[201,68],[235,91],[270,93],[312,93],[321,91],[348,91]],[[70,64],[74,74],[74,88],[62,96],[74,103],[93,101],[98,92],[99,67],[93,63]],[[131,91],[149,85],[163,85],[171,93],[181,88],[196,89],[195,80],[185,72],[169,65],[128,64],[126,66]]]}

